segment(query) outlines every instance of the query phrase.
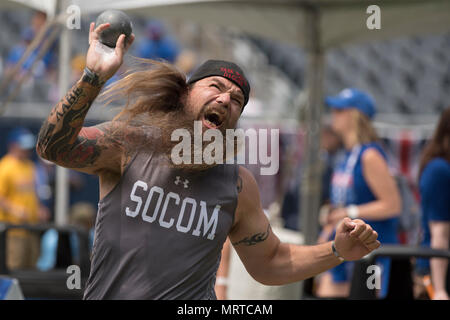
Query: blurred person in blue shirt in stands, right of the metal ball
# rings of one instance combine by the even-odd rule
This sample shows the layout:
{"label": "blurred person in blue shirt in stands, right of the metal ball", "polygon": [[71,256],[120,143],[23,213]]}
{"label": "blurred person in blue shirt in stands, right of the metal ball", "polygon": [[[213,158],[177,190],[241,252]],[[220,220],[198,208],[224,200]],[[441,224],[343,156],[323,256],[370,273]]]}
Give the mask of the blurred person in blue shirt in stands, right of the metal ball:
{"label": "blurred person in blue shirt in stands, right of the metal ball", "polygon": [[153,60],[164,59],[175,63],[180,49],[161,21],[150,21],[145,28],[145,35],[146,39],[137,46],[137,57]]}

